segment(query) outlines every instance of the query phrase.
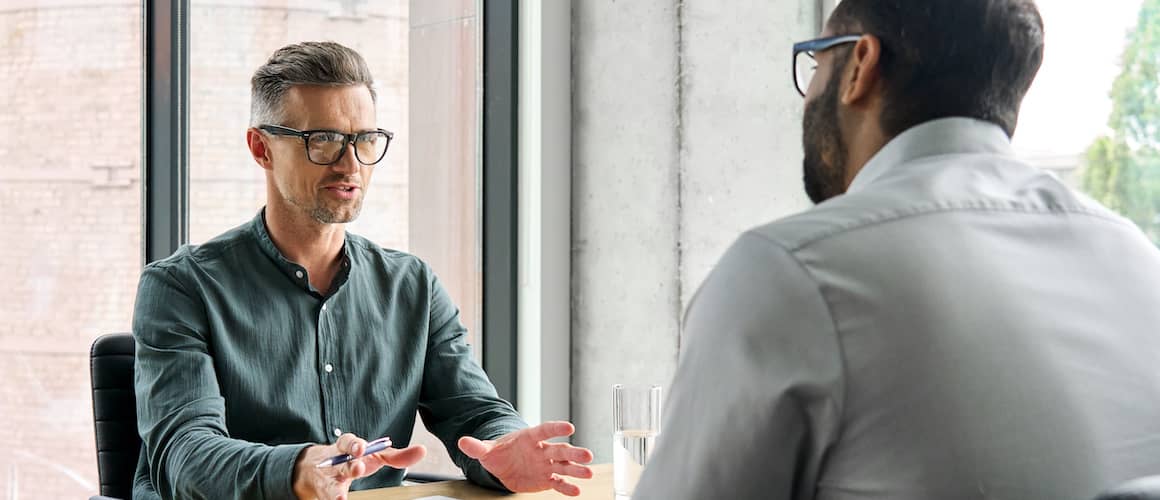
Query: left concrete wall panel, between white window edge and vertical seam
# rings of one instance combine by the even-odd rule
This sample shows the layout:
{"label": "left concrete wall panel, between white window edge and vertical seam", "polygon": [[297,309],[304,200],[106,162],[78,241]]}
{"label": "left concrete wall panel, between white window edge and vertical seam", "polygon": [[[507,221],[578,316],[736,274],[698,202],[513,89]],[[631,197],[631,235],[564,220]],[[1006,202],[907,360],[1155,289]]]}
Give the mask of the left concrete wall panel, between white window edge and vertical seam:
{"label": "left concrete wall panel, between white window edge and vertical seam", "polygon": [[667,383],[680,317],[677,3],[572,3],[573,442],[610,461],[611,386]]}

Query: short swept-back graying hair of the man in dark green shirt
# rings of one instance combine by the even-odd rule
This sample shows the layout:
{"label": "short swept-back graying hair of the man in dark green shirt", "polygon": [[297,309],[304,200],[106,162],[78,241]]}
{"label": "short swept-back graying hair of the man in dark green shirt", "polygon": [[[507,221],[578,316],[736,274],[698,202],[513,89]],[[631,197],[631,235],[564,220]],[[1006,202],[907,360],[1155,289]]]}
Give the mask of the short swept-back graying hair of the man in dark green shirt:
{"label": "short swept-back graying hair of the man in dark green shirt", "polygon": [[296,85],[342,87],[365,85],[376,100],[375,79],[358,52],[334,42],[302,42],[283,46],[251,79],[249,125],[281,125],[282,99]]}

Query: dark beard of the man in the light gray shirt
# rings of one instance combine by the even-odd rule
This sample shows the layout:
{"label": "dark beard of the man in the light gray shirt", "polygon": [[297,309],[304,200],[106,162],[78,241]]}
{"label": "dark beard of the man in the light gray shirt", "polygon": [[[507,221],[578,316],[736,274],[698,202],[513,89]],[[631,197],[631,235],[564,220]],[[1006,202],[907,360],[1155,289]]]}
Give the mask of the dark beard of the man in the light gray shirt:
{"label": "dark beard of the man in the light gray shirt", "polygon": [[838,87],[835,72],[826,89],[805,107],[802,118],[802,181],[814,204],[846,193],[846,142],[838,128]]}

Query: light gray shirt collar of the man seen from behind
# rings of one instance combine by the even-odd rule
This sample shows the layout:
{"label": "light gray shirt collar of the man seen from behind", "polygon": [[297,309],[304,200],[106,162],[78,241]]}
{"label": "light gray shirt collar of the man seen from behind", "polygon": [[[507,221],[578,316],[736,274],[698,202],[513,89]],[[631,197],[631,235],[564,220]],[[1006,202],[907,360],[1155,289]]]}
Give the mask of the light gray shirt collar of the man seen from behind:
{"label": "light gray shirt collar of the man seen from behind", "polygon": [[855,193],[891,169],[943,154],[991,153],[1014,155],[1007,132],[994,123],[976,118],[938,118],[915,125],[882,147],[858,171],[847,193]]}

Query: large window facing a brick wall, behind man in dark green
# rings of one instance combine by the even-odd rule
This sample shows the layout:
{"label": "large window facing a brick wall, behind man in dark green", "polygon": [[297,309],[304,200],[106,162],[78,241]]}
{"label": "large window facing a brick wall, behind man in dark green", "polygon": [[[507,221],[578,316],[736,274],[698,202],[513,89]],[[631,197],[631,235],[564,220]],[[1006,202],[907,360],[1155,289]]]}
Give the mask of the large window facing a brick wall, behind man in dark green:
{"label": "large window facing a brick wall, behind man in dark green", "polygon": [[[345,43],[367,57],[379,126],[396,132],[350,230],[430,263],[480,357],[477,0],[190,3],[189,208],[150,220],[188,217],[197,244],[253,217],[266,191],[245,146],[251,74],[284,44]],[[97,492],[88,349],[101,334],[129,331],[145,260],[142,6],[0,2],[0,269],[10,283],[0,300],[2,499]],[[433,451],[418,469],[456,472],[441,443],[416,440]]]}

